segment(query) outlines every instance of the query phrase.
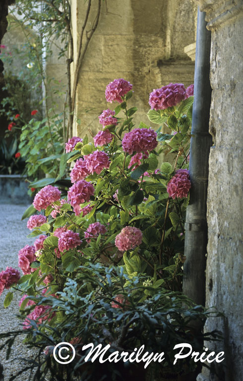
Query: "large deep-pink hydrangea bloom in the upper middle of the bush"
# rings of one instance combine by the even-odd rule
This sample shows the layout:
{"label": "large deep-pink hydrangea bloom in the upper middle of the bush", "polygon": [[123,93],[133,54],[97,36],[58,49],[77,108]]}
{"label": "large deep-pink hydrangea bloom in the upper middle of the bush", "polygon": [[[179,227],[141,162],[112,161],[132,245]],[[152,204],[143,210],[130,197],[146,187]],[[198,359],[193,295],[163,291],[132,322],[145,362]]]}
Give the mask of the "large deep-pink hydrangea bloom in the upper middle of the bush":
{"label": "large deep-pink hydrangea bloom in the upper middle of the bush", "polygon": [[122,139],[122,148],[129,155],[132,152],[152,151],[157,144],[157,133],[152,128],[134,128],[126,132]]}

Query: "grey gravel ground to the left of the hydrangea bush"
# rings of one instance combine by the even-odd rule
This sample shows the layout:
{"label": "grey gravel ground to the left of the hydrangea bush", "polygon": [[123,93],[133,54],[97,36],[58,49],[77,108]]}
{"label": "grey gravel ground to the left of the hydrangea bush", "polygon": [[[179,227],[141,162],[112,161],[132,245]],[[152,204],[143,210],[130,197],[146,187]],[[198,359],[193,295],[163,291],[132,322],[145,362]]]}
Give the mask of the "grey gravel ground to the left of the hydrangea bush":
{"label": "grey gravel ground to the left of the hydrangea bush", "polygon": [[[5,270],[6,266],[16,268],[18,266],[18,251],[27,244],[33,244],[33,239],[26,238],[30,233],[26,227],[27,220],[21,221],[21,216],[27,206],[13,205],[0,200],[0,271]],[[4,290],[0,296],[0,332],[20,328],[20,321],[16,314],[18,314],[18,302],[21,297],[15,293],[12,303],[5,309],[3,301],[6,293],[7,291]],[[0,363],[4,368],[4,381],[8,381],[12,375],[15,375],[22,368],[23,362],[16,360],[17,357],[30,358],[32,355],[21,340],[21,337],[15,340],[9,360],[5,360],[5,350],[0,351]],[[16,381],[27,380],[29,380],[29,373],[27,372],[16,378]]]}

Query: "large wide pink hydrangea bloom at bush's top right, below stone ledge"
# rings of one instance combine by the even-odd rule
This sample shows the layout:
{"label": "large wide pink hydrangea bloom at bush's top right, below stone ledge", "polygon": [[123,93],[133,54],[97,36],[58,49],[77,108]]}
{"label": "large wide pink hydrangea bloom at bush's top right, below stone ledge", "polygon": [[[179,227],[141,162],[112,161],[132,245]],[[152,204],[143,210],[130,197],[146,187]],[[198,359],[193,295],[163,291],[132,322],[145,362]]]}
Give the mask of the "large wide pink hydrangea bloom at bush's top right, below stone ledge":
{"label": "large wide pink hydrangea bloom at bush's top right, below stone ledge", "polygon": [[186,90],[182,83],[170,83],[149,95],[149,105],[153,110],[164,110],[176,106],[186,98]]}

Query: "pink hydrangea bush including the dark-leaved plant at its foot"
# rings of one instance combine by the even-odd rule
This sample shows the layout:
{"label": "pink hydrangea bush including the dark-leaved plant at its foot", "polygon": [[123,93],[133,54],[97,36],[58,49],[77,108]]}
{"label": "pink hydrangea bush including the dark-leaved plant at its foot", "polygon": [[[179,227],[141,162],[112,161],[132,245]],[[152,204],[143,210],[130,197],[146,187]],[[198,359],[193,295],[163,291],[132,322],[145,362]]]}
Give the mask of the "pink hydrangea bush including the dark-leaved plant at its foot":
{"label": "pink hydrangea bush including the dark-leaved plant at its foot", "polygon": [[[52,380],[98,380],[81,353],[63,373],[52,357],[61,341],[77,348],[80,342],[112,342],[131,350],[143,343],[148,350],[171,350],[175,338],[194,340],[186,333],[190,319],[205,318],[181,294],[191,86],[151,92],[147,115],[160,125],[156,131],[143,122],[135,127],[137,109],[128,107],[132,93],[124,79],[109,83],[106,99],[118,105],[99,116],[103,128],[91,141],[82,136],[66,143],[67,153],[76,152],[69,159],[76,160],[70,186],[60,191],[47,185],[35,196],[27,226],[36,241],[18,254],[24,275],[9,267],[0,273],[0,293],[12,286],[5,307],[14,290],[24,294],[26,340],[45,353],[38,372],[55,370]],[[161,132],[163,125],[169,133]],[[159,166],[159,156],[169,152],[171,162]],[[167,359],[166,367],[171,365]],[[180,372],[194,368],[187,364]]]}

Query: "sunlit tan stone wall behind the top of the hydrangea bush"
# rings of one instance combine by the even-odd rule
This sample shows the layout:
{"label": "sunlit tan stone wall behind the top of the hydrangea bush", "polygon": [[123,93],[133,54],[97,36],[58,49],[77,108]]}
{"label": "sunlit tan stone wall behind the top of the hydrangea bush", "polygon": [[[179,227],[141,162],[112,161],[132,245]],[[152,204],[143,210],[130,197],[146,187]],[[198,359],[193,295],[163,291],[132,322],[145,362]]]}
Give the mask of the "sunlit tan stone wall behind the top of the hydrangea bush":
{"label": "sunlit tan stone wall behind the top of the hydrangea bush", "polygon": [[[74,64],[87,3],[72,0]],[[75,115],[81,124],[73,134],[89,127],[100,129],[98,115],[113,108],[106,102],[106,85],[115,78],[133,84],[135,121],[148,123],[149,93],[170,82],[186,86],[194,80],[194,62],[184,47],[195,42],[196,7],[191,0],[108,0],[101,2],[98,27],[88,46],[79,76]],[[92,1],[88,29],[97,11]],[[186,20],[186,22],[185,22]],[[74,118],[75,119],[75,118]]]}

